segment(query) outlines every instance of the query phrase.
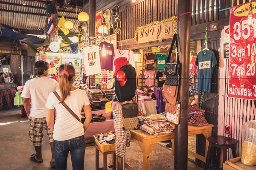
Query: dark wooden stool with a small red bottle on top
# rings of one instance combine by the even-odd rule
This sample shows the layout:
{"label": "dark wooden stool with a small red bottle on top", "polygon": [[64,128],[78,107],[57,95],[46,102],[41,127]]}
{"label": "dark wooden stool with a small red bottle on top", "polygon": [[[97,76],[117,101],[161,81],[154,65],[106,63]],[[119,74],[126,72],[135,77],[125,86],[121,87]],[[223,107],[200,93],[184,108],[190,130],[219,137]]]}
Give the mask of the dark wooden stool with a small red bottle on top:
{"label": "dark wooden stool with a small red bottle on top", "polygon": [[217,166],[220,167],[220,157],[221,157],[221,150],[223,153],[223,163],[227,161],[227,149],[231,148],[233,158],[236,158],[236,144],[237,140],[230,139],[226,140],[224,136],[210,136],[207,138],[209,141],[209,147],[207,152],[207,158],[205,162],[204,170],[209,170],[211,165],[211,156],[215,153],[217,149]]}

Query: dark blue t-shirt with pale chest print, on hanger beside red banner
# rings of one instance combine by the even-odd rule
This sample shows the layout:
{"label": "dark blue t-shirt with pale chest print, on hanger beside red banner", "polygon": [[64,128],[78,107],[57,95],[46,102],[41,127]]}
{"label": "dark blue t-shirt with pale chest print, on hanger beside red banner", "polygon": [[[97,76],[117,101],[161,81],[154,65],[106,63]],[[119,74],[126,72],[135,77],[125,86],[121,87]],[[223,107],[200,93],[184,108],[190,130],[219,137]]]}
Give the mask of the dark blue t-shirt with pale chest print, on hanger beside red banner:
{"label": "dark blue t-shirt with pale chest print, on hanger beside red banner", "polygon": [[213,67],[217,64],[214,52],[200,51],[195,64],[198,66],[198,90],[210,93]]}

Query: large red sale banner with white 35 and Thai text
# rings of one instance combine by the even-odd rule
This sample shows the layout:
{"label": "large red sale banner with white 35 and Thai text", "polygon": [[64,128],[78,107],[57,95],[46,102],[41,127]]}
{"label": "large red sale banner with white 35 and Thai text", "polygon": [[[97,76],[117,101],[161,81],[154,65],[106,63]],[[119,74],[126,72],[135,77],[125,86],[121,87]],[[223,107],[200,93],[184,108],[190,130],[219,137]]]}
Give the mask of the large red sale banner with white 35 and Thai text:
{"label": "large red sale banner with white 35 and Thai text", "polygon": [[[252,10],[252,17],[248,17]],[[228,97],[256,100],[256,2],[230,8]]]}

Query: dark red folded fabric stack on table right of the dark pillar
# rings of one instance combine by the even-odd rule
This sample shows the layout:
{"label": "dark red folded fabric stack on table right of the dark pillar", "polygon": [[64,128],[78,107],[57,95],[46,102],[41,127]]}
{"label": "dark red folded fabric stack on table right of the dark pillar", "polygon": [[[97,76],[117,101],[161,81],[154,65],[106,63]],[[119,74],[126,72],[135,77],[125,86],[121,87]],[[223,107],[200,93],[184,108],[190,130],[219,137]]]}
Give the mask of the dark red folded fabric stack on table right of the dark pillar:
{"label": "dark red folded fabric stack on table right of the dark pillar", "polygon": [[205,126],[208,125],[204,117],[205,111],[198,105],[189,106],[189,125]]}

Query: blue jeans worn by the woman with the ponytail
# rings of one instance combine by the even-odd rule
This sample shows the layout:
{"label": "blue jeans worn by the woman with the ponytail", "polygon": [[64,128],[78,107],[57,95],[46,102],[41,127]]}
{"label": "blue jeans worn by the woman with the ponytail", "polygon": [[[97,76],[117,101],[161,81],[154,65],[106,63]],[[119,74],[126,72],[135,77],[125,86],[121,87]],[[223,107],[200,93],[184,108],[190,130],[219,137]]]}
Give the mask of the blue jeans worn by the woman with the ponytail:
{"label": "blue jeans worn by the woman with the ponytail", "polygon": [[53,141],[57,170],[67,170],[67,156],[70,152],[73,170],[84,170],[84,135],[66,141]]}

